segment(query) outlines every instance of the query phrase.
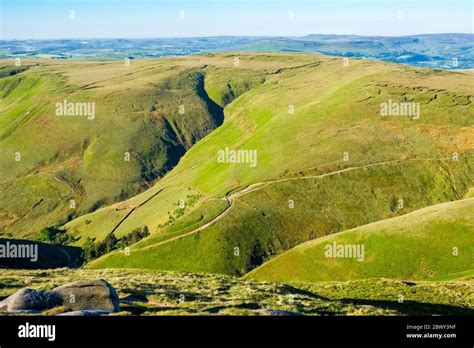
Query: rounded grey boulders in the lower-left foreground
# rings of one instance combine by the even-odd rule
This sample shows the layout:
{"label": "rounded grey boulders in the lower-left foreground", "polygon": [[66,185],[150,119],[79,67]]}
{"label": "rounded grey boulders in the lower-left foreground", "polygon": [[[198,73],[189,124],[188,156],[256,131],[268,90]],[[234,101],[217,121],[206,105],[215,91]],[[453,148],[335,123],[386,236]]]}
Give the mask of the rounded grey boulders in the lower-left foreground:
{"label": "rounded grey boulders in the lower-left foreground", "polygon": [[117,291],[105,280],[81,280],[51,291],[24,288],[0,302],[1,312],[46,310],[66,306],[74,311],[120,311]]}

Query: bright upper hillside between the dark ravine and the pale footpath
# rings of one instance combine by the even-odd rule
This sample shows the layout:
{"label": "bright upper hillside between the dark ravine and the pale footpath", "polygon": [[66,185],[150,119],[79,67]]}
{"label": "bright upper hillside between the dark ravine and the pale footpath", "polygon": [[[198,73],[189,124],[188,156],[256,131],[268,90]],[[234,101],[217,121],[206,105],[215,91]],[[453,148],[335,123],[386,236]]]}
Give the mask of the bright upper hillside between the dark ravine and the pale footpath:
{"label": "bright upper hillside between the dark ravine and the pale footpath", "polygon": [[[234,57],[219,56],[219,59],[222,64],[232,64]],[[278,55],[250,55],[245,58],[246,56],[240,58],[239,69],[245,71],[267,66],[268,70],[272,70],[267,73],[263,84],[244,93],[226,107],[224,124],[196,144],[183,157],[179,166],[154,188],[121,204],[120,209],[123,210],[120,212],[111,213],[112,209],[106,208],[72,222],[69,226],[72,231],[76,231],[74,233],[87,231],[88,225],[85,222],[89,220],[92,223],[100,221],[100,224],[94,225],[94,230],[104,235],[112,230],[120,217],[127,214],[130,207],[145,202],[162,189],[164,190],[156,200],[149,201],[130,215],[117,230],[119,235],[132,230],[138,223],[148,225],[151,231],[159,232],[159,226],[169,220],[170,214],[177,209],[177,203],[188,200],[190,193],[196,194],[194,190],[202,194],[201,200],[220,199],[232,190],[259,181],[331,172],[342,167],[400,158],[446,157],[453,151],[462,154],[472,149],[469,137],[472,129],[468,118],[471,104],[447,106],[452,111],[452,116],[447,116],[441,105],[431,105],[433,102],[430,102],[426,107],[427,116],[417,122],[400,118],[381,119],[378,116],[380,102],[391,96],[396,98],[410,90],[410,93],[428,103],[436,94],[429,89],[418,96],[419,92],[412,88],[395,88],[389,85],[376,88],[375,82],[371,85],[358,76],[368,75],[365,79],[375,81],[389,80],[390,75],[401,74],[397,71],[398,66],[375,65],[370,69],[373,63],[355,61],[354,65],[362,66],[344,70],[347,67],[343,67],[340,60],[321,62],[315,61],[312,56],[288,58]],[[278,68],[285,66],[284,64],[295,64],[296,59],[301,60],[301,68]],[[240,72],[239,69],[236,69],[237,72]],[[382,76],[374,76],[377,69],[387,71]],[[331,70],[334,74],[329,73]],[[356,86],[340,85],[340,79],[335,78],[337,74],[347,75],[349,81],[356,79]],[[410,77],[406,81],[412,84],[415,81],[411,80],[417,79],[419,75],[412,71],[405,74]],[[446,76],[451,75],[446,73]],[[431,76],[426,73],[424,80],[439,88],[446,76]],[[451,77],[457,79],[458,76]],[[457,85],[459,87],[454,87],[453,84],[453,88],[459,88],[466,94],[468,88],[463,85],[464,75],[461,77],[461,83]],[[399,76],[392,78],[400,80]],[[467,79],[466,83],[469,82]],[[330,92],[328,90],[331,85],[334,88],[326,105],[322,95]],[[339,88],[336,88],[338,85]],[[358,85],[366,87],[361,90]],[[307,86],[312,88],[308,89]],[[380,94],[387,94],[380,97],[379,89]],[[291,93],[285,95],[285,91]],[[369,98],[371,94],[374,94],[374,100]],[[353,103],[341,102],[365,99],[367,100],[360,103],[360,106],[359,103],[354,106]],[[288,113],[289,105],[295,107],[295,114]],[[257,150],[258,166],[250,168],[245,165],[217,163],[216,153],[225,147]],[[346,151],[350,153],[348,162],[344,162],[342,158]],[[192,207],[187,206],[186,210],[190,211]],[[114,215],[119,216],[113,217]]]}

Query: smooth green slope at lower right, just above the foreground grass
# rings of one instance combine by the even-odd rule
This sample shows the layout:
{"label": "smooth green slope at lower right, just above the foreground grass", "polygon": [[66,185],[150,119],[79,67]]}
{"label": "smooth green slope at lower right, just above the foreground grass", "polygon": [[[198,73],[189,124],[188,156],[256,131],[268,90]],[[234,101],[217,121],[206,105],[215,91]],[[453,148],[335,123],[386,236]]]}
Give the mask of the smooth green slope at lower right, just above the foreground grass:
{"label": "smooth green slope at lower right, just above the foreground grass", "polygon": [[[474,269],[473,240],[474,199],[470,198],[315,239],[263,264],[248,276],[278,282],[442,278]],[[330,255],[326,254],[327,248],[334,243],[363,245],[365,258],[326,257]]]}

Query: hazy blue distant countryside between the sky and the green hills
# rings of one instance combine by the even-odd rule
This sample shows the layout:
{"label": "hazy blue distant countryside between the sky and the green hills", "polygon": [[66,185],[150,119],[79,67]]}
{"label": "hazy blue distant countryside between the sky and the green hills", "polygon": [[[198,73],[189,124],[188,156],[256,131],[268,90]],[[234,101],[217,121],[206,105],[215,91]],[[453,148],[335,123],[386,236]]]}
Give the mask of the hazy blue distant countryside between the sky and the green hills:
{"label": "hazy blue distant countryside between the sky and the green hills", "polygon": [[[219,36],[156,39],[0,41],[0,58],[135,60],[209,52],[309,52],[378,59],[441,69],[474,66],[474,35],[428,34],[399,37],[306,35],[302,37]],[[453,57],[456,60],[453,60]]]}

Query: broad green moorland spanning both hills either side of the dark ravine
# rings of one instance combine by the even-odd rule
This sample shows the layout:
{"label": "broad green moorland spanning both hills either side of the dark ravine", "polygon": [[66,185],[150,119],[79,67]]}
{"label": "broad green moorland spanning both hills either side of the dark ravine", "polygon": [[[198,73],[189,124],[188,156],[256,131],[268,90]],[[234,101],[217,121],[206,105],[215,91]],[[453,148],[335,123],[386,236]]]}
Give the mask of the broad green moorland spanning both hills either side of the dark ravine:
{"label": "broad green moorland spanning both hills either side of the dark ravine", "polygon": [[[361,59],[346,66],[342,58],[307,54],[233,53],[137,61],[128,68],[110,62],[41,62],[0,81],[33,85],[8,87],[13,92],[0,103],[7,114],[0,120],[6,134],[0,168],[8,174],[2,191],[13,190],[2,195],[8,197],[0,205],[6,210],[4,231],[27,236],[46,222],[72,219],[64,227],[77,245],[112,231],[121,237],[147,226],[151,232],[129,255],[107,254],[90,263],[93,268],[243,275],[308,240],[458,200],[473,186],[474,80],[467,73]],[[107,111],[90,123],[56,120],[42,111],[43,116],[28,118],[29,98],[58,90],[65,96],[64,90],[90,100],[95,96],[104,101],[98,110]],[[186,97],[191,105],[205,107],[189,109],[187,101],[182,104]],[[381,117],[380,105],[389,100],[419,103],[419,119]],[[53,109],[54,103],[41,105]],[[180,115],[180,105],[189,114]],[[211,132],[221,108],[224,122]],[[198,109],[212,122],[189,126]],[[178,122],[183,124],[175,130]],[[158,131],[151,125],[163,123],[160,130],[172,128],[171,143],[185,143],[187,152],[169,155],[170,165],[151,165],[163,155],[161,143],[149,143]],[[181,137],[185,128],[191,133]],[[90,141],[74,140],[85,131]],[[177,140],[182,138],[189,141]],[[43,141],[57,143],[36,149]],[[22,158],[30,154],[21,164],[13,160],[20,145],[28,149]],[[58,146],[64,149],[55,159]],[[225,148],[256,151],[258,163],[219,163],[217,152]],[[127,150],[137,154],[135,171],[123,161]],[[32,154],[47,160],[34,162]],[[161,177],[172,164],[177,165]],[[7,169],[12,165],[15,170]],[[143,179],[150,168],[154,173],[161,168],[160,175]],[[33,179],[45,181],[35,185],[35,197],[24,184]],[[130,186],[135,189],[124,189]],[[50,200],[41,191],[48,187],[54,188],[48,189]],[[69,211],[71,195],[94,211]]]}

